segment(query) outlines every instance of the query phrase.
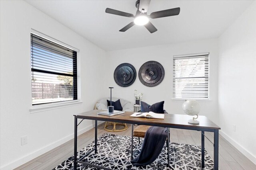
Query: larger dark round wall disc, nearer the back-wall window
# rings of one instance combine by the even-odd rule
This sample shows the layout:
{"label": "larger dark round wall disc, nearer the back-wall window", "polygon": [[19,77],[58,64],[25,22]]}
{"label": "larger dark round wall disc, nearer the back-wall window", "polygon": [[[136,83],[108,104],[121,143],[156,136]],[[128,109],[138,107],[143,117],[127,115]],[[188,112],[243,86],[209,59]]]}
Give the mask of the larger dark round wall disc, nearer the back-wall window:
{"label": "larger dark round wall disc, nearer the back-wall window", "polygon": [[145,86],[157,86],[164,79],[164,67],[157,61],[148,61],[142,64],[138,76]]}

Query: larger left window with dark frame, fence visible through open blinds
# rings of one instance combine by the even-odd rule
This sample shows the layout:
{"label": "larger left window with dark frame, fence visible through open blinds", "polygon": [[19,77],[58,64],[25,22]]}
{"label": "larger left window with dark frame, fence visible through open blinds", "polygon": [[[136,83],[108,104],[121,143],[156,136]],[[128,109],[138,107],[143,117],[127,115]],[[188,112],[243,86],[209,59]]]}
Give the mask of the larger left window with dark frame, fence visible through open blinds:
{"label": "larger left window with dark frame, fence visible through open blinds", "polygon": [[31,34],[32,105],[77,100],[77,52]]}

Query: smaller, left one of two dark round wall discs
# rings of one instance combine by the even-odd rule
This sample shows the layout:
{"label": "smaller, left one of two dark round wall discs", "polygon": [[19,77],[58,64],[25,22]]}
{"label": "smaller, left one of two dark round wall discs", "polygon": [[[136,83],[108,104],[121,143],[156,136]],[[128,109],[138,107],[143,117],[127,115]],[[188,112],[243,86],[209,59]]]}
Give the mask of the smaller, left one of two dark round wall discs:
{"label": "smaller, left one of two dark round wall discs", "polygon": [[136,79],[136,70],[132,64],[122,63],[114,71],[114,80],[121,87],[128,87]]}

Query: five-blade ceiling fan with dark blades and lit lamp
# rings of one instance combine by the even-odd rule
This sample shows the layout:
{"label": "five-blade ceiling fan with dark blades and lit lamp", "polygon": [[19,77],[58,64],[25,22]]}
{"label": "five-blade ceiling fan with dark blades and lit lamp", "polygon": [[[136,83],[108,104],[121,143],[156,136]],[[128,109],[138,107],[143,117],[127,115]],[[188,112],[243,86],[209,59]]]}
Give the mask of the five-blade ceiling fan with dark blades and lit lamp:
{"label": "five-blade ceiling fan with dark blades and lit lamp", "polygon": [[134,21],[120,29],[119,31],[124,32],[133,25],[144,25],[146,29],[150,33],[154,33],[157,31],[156,27],[149,21],[148,18],[162,18],[162,17],[168,17],[168,16],[176,16],[180,14],[180,8],[172,8],[168,10],[162,10],[162,11],[157,11],[157,12],[152,12],[149,16],[147,14],[148,11],[148,6],[150,4],[150,0],[137,0],[135,3],[136,8],[138,8],[136,15],[134,16],[133,14],[127,13],[127,12],[122,12],[118,10],[113,10],[110,8],[106,8],[105,12],[108,14],[114,14],[118,16],[124,16],[124,17],[132,17],[134,18]]}

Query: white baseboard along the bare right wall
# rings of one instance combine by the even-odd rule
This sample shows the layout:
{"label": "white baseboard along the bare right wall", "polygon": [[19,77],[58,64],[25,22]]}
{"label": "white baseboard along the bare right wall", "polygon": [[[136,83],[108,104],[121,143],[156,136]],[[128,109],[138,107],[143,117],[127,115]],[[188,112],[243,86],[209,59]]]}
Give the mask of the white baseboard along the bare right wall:
{"label": "white baseboard along the bare right wall", "polygon": [[236,149],[238,149],[244,156],[246,156],[248,159],[250,159],[254,164],[256,164],[256,156],[254,156],[251,152],[246,150],[244,147],[242,147],[240,144],[238,144],[234,139],[232,139],[230,136],[228,136],[226,133],[224,133],[222,130],[220,130],[220,135],[224,137],[229,143],[231,143]]}

